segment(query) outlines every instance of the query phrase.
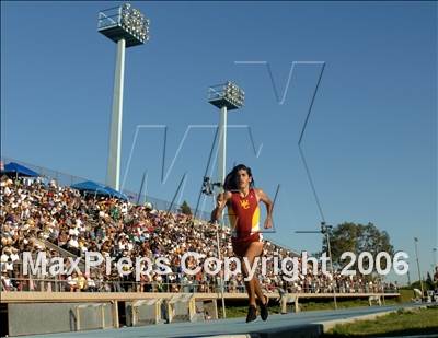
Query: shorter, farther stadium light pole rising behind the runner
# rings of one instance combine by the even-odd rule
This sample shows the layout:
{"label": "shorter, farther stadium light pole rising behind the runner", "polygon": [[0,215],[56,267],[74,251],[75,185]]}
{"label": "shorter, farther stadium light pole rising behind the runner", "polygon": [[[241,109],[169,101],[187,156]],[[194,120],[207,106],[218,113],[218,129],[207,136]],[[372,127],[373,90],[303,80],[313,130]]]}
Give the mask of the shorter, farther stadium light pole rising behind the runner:
{"label": "shorter, farther stadium light pole rising behind the runner", "polygon": [[[220,109],[219,118],[219,159],[218,159],[218,183],[219,190],[223,191],[227,171],[227,114],[228,110],[239,109],[243,106],[245,93],[237,84],[227,81],[222,84],[212,85],[208,89],[208,102]],[[223,224],[223,211],[220,217]],[[218,247],[218,259],[221,259],[219,224],[216,222],[216,242]],[[226,318],[226,301],[224,301],[224,281],[223,277],[219,278],[220,292],[222,295],[222,317]]]}

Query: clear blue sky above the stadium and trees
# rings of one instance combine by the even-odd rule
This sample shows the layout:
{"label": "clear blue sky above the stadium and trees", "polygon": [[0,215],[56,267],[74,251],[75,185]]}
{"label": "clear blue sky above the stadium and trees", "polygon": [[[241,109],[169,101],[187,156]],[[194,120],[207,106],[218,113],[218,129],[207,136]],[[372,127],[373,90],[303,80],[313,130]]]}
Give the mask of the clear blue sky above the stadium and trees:
{"label": "clear blue sky above the stadium and trees", "polygon": [[[1,2],[2,155],[105,180],[116,45],[96,32],[100,10],[122,2]],[[434,2],[132,2],[151,20],[151,39],[127,49],[122,175],[136,126],[166,125],[169,168],[188,125],[214,125],[207,88],[233,80],[245,106],[229,114],[228,167],[253,168],[274,195],[276,234],[315,252],[321,221],[297,141],[321,66],[325,69],[302,148],[327,222],[373,222],[412,257],[420,241],[430,269],[437,232],[437,4]],[[162,130],[140,131],[126,188],[196,203],[214,131],[188,135],[161,184]],[[211,201],[209,201],[210,203]],[[435,258],[437,259],[437,258]],[[399,279],[405,282],[406,278]]]}

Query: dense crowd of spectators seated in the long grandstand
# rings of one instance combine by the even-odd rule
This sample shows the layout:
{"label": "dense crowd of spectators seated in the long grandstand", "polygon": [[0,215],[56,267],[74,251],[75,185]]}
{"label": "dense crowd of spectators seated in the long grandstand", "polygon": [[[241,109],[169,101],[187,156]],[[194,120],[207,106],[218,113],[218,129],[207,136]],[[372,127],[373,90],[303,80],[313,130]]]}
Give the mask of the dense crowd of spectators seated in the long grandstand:
{"label": "dense crowd of spectators seated in the long grandstand", "polygon": [[[221,257],[231,257],[230,231],[189,214],[153,209],[150,203],[135,205],[122,199],[83,195],[70,187],[59,186],[55,180],[41,178],[1,177],[1,287],[9,291],[106,291],[106,292],[216,292],[219,275],[211,276],[201,269],[192,276],[183,273],[181,257],[186,252],[196,252],[207,257],[219,257],[217,232],[220,238]],[[55,277],[41,273],[23,276],[22,254],[45,252],[47,259],[74,255],[83,257],[85,252],[99,252],[104,257],[158,257],[169,259],[172,273],[151,271],[135,281],[135,273],[122,276],[115,266],[105,273],[105,265],[90,273],[83,271]],[[266,241],[265,256],[280,259],[292,252]],[[201,260],[203,260],[201,259]],[[188,266],[203,261],[188,260]],[[261,276],[267,292],[278,288],[289,292],[377,292],[383,283],[360,277],[341,276],[335,272],[316,275],[302,272],[296,281],[285,281],[274,275],[274,263],[267,273]],[[388,285],[387,285],[388,287]],[[394,285],[391,285],[394,287]],[[240,273],[224,284],[228,292],[245,292]]]}

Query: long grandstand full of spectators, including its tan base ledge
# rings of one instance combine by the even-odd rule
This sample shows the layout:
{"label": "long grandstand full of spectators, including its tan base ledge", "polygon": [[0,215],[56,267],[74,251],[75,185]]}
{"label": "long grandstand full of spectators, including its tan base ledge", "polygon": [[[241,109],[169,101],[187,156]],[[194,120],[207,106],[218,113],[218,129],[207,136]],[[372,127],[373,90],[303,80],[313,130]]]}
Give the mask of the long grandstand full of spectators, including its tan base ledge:
{"label": "long grandstand full of spectators, including its tan base ledge", "polygon": [[[33,168],[38,171],[37,167]],[[74,183],[73,179],[70,180],[70,185],[72,183]],[[188,310],[193,308],[193,312],[187,315],[188,317],[183,315],[184,318],[193,320],[197,312],[196,301],[204,301],[204,308],[210,306],[207,304],[215,302],[216,310],[210,310],[209,316],[212,314],[212,317],[217,317],[216,300],[219,299],[220,292],[219,278],[205,273],[203,269],[193,276],[183,273],[181,258],[186,252],[200,253],[203,258],[199,263],[193,258],[188,260],[188,267],[195,267],[201,266],[208,257],[219,257],[217,232],[221,243],[221,257],[231,257],[229,229],[210,224],[200,218],[193,219],[191,214],[180,212],[177,207],[168,212],[165,208],[157,208],[153,202],[137,205],[134,200],[136,197],[124,200],[102,196],[99,191],[83,194],[69,185],[59,184],[56,177],[48,176],[47,172],[44,176],[39,173],[38,177],[25,177],[18,173],[2,175],[0,211],[2,305],[27,302],[27,305],[37,306],[38,302],[42,304],[79,302],[73,311],[78,312],[77,318],[80,316],[80,311],[87,312],[92,308],[102,313],[107,311],[107,316],[112,319],[111,322],[107,319],[106,324],[112,327],[118,327],[119,320],[125,324],[136,320],[132,316],[129,320],[126,319],[126,313],[129,311],[125,310],[125,305],[127,306],[128,303],[129,308],[140,305],[155,308],[183,301],[187,304],[193,302],[193,305],[185,306]],[[83,267],[87,252],[97,252],[115,260],[122,257],[131,257],[134,260],[138,256],[151,259],[164,256],[171,263],[172,272],[168,275],[149,272],[141,275],[140,280],[136,281],[135,273],[120,276],[115,265],[107,275],[103,265],[91,269],[90,273],[81,270],[69,276],[67,273],[43,276],[39,272],[24,275],[22,266],[24,252],[32,253],[34,257],[38,253],[45,253],[47,259],[62,257],[67,266],[70,263],[68,257],[80,257],[80,268]],[[297,256],[297,253],[266,241],[264,255],[285,258]],[[298,304],[298,298],[331,298],[334,291],[338,296],[369,298],[384,292],[389,292],[388,295],[396,295],[394,285],[366,281],[360,277],[347,277],[339,273],[332,277],[322,272],[318,275],[300,272],[298,280],[286,281],[281,276],[275,276],[273,268],[273,261],[268,261],[267,275],[260,279],[262,288],[273,299],[278,299],[280,294],[293,295],[296,304]],[[191,299],[192,295],[193,299]],[[224,283],[224,295],[227,300],[246,298],[241,273]],[[152,303],[145,303],[148,300]],[[160,300],[161,303],[158,302]],[[166,303],[162,303],[164,300]],[[99,304],[90,307],[90,302],[91,304],[95,302],[117,304],[118,302],[118,305],[115,305],[117,312],[104,310],[104,307],[100,310]],[[3,306],[2,311],[8,311],[7,308]],[[9,308],[10,313],[13,307]],[[159,320],[157,316],[161,317],[159,312],[154,312],[154,322]],[[120,314],[123,314],[122,317]],[[176,314],[173,317],[176,318]],[[104,318],[103,314],[102,318]],[[137,322],[139,323],[139,319]],[[170,322],[169,315],[168,322]],[[74,326],[70,329],[83,327]],[[35,326],[33,333],[38,333]]]}

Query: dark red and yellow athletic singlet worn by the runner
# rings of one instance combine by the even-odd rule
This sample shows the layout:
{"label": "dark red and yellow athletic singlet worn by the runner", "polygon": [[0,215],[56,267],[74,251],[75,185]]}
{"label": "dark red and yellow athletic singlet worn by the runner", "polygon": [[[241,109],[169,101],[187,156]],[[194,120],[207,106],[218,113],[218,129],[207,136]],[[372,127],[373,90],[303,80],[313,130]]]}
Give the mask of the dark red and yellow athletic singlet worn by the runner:
{"label": "dark red and yellow athletic singlet worn by the runner", "polygon": [[231,194],[228,217],[232,229],[232,237],[247,237],[258,232],[260,208],[254,189],[251,188],[246,197],[241,197],[239,191]]}

